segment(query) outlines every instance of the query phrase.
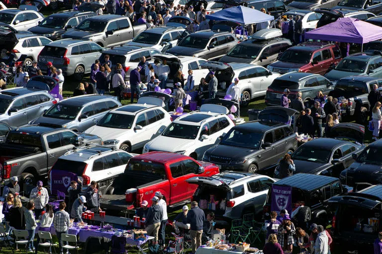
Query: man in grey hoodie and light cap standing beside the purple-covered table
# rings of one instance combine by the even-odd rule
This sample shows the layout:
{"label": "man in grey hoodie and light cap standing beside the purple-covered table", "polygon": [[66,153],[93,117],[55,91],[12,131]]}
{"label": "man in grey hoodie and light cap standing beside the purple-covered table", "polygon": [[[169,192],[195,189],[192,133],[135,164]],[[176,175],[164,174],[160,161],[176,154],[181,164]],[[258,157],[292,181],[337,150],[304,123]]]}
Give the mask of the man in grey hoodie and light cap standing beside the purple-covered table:
{"label": "man in grey hoodie and light cap standing beside the purple-covered table", "polygon": [[149,236],[154,237],[153,242],[154,244],[157,244],[159,227],[161,225],[161,220],[163,217],[163,210],[162,206],[158,204],[159,198],[157,196],[153,196],[151,201],[151,206],[146,216],[145,231]]}

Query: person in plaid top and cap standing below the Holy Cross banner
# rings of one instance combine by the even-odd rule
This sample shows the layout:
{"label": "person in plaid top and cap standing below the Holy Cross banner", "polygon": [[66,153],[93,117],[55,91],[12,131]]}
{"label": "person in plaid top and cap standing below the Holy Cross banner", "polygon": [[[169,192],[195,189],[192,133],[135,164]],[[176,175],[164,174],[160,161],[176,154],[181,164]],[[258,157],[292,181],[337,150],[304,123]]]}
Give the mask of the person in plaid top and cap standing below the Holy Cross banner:
{"label": "person in plaid top and cap standing below the Holy Cross banner", "polygon": [[283,222],[278,228],[277,235],[279,243],[284,252],[293,252],[293,244],[296,229],[294,228],[293,222],[290,221],[290,217],[288,214],[284,215]]}

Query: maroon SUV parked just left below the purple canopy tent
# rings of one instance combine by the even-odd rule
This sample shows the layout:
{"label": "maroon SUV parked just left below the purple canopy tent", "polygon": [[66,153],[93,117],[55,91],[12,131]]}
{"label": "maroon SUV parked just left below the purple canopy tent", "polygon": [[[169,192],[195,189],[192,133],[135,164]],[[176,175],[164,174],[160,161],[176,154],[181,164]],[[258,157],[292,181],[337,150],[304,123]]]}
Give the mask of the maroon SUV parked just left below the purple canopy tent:
{"label": "maroon SUV parked just left below the purple canopy tent", "polygon": [[267,69],[278,73],[291,71],[310,72],[324,75],[342,59],[338,45],[323,42],[304,42],[287,49]]}

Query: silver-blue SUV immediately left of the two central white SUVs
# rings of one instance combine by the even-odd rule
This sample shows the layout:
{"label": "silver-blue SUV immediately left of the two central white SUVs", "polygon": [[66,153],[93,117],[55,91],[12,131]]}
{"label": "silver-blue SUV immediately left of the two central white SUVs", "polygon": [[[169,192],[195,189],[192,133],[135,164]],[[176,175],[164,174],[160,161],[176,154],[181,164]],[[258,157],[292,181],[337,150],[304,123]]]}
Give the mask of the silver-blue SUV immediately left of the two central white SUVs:
{"label": "silver-blue SUV immediately left of the two central white SUVs", "polygon": [[94,126],[107,111],[121,106],[116,97],[110,95],[82,95],[62,100],[29,124],[64,127],[74,131],[85,131]]}

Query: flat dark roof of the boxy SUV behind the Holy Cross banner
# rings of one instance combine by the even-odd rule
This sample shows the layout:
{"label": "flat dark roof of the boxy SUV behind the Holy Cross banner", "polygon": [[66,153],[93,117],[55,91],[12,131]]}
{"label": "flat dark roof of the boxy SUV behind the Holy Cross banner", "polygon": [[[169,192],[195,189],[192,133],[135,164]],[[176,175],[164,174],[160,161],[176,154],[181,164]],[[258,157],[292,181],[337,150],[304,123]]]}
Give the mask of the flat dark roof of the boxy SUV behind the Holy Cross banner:
{"label": "flat dark roof of the boxy SUV behind the Holy Cross banner", "polygon": [[339,181],[339,179],[322,175],[298,173],[283,178],[282,180],[279,180],[276,183],[274,183],[274,185],[284,185],[290,186],[292,188],[298,188],[304,191],[314,191],[336,181]]}

